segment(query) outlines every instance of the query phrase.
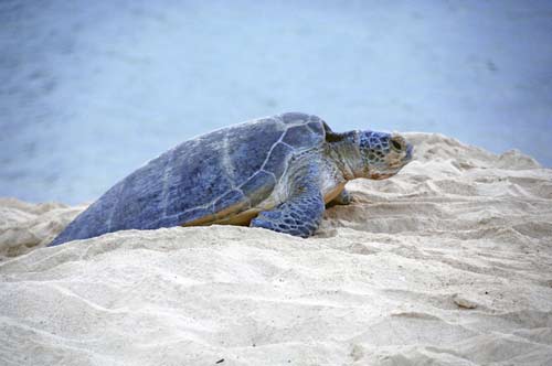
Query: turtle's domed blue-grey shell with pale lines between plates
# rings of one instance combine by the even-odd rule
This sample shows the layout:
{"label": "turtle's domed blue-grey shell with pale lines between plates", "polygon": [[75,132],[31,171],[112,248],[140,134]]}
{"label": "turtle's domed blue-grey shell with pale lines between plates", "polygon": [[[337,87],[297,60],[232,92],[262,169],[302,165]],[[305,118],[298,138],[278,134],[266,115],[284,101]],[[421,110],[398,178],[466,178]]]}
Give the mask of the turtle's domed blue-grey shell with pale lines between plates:
{"label": "turtle's domed blue-grey shell with pale lines between plates", "polygon": [[270,195],[294,153],[322,144],[326,130],[316,116],[289,112],[185,141],[113,186],[51,245],[124,229],[233,223]]}

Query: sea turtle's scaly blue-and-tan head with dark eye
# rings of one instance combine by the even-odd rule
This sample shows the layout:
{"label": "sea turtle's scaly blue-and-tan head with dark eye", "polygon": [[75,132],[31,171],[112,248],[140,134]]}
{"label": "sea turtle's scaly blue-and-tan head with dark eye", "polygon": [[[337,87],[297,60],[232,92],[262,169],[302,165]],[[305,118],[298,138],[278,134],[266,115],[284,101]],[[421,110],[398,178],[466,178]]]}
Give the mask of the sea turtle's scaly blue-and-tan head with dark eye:
{"label": "sea turtle's scaly blue-and-tan head with dark eye", "polygon": [[412,160],[412,144],[397,133],[360,131],[358,147],[362,163],[357,165],[357,177],[386,179]]}

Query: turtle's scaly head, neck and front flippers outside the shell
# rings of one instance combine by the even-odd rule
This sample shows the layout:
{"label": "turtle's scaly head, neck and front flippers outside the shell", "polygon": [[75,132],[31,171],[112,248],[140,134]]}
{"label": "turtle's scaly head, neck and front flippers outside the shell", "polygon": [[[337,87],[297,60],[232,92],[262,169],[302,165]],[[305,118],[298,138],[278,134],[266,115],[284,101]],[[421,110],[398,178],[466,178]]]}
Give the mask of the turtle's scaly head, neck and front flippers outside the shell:
{"label": "turtle's scaly head, neck and front flippers outside the shell", "polygon": [[315,234],[328,202],[349,204],[344,184],[353,179],[385,179],[412,160],[412,146],[401,136],[373,131],[333,133],[323,151],[299,154],[288,173],[288,196],[251,223],[300,237]]}

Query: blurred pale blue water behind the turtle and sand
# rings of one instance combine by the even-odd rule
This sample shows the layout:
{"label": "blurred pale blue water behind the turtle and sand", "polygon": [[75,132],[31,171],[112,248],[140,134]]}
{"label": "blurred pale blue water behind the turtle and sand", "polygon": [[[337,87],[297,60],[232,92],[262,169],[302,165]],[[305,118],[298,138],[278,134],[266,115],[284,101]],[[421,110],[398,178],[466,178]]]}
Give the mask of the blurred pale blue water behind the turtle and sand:
{"label": "blurred pale blue water behind the turtle and sand", "polygon": [[87,202],[283,111],[551,166],[552,1],[0,0],[0,196]]}

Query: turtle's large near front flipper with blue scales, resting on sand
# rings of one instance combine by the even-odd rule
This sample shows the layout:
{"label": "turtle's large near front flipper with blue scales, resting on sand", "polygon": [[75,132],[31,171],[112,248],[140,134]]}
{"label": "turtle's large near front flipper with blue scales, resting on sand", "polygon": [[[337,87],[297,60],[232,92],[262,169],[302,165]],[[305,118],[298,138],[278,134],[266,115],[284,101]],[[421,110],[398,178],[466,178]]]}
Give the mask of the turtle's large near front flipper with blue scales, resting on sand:
{"label": "turtle's large near front flipper with blue scales, resting on sand", "polygon": [[262,212],[251,222],[252,227],[263,227],[304,238],[315,234],[325,209],[317,166],[309,165],[307,174],[299,176],[293,184],[288,201],[274,209]]}

